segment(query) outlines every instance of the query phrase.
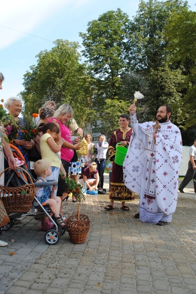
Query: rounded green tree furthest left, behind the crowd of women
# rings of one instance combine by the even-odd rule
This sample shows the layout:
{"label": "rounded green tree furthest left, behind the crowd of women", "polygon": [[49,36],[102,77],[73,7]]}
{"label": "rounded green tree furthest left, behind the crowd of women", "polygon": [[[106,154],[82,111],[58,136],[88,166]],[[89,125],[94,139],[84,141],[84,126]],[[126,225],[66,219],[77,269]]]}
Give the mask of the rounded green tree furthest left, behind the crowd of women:
{"label": "rounded green tree furthest left, behind the crowd of women", "polygon": [[57,107],[68,103],[83,127],[94,114],[89,108],[93,93],[87,66],[81,63],[78,43],[56,40],[54,45],[49,51],[41,51],[36,56],[37,65],[24,74],[24,91],[20,93],[24,111],[36,112],[46,100],[55,101]]}

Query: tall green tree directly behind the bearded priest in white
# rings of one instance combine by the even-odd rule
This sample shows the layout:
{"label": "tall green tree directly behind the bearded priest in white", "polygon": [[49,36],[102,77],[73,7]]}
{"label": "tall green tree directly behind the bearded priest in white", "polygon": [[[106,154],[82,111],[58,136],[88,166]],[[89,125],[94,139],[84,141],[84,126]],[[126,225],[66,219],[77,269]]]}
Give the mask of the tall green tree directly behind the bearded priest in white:
{"label": "tall green tree directly behind the bearded priest in white", "polygon": [[[140,1],[136,16],[130,21],[129,59],[130,72],[143,77],[148,87],[139,90],[145,96],[137,105],[145,105],[143,120],[152,120],[161,104],[170,104],[177,113],[173,122],[179,124],[183,91],[183,69],[177,63],[169,63],[166,50],[165,25],[173,11],[187,9],[187,1]],[[183,121],[180,124],[183,125]]]}

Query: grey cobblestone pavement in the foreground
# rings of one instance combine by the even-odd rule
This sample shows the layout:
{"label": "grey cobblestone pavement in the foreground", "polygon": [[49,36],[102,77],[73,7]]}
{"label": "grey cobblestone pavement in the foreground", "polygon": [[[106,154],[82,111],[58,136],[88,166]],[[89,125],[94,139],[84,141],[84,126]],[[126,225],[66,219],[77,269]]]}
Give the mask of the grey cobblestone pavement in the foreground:
{"label": "grey cobblestone pavement in the foreground", "polygon": [[[46,245],[39,221],[22,216],[0,236],[9,243],[0,247],[0,294],[196,294],[193,183],[184,191],[165,226],[133,218],[138,196],[129,212],[118,202],[105,211],[109,193],[87,196],[81,214],[90,230],[83,244],[72,244],[65,232],[56,245]],[[66,215],[76,211],[77,203],[64,202]]]}

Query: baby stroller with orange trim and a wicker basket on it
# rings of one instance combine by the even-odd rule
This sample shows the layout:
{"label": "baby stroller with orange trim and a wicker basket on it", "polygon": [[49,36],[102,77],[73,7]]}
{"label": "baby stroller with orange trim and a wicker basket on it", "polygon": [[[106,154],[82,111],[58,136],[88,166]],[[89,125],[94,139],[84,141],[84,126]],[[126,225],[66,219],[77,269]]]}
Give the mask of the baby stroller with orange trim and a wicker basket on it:
{"label": "baby stroller with orange trim and a wicker basket on it", "polygon": [[[58,227],[53,220],[53,211],[49,204],[41,204],[39,199],[35,196],[36,187],[40,186],[53,186],[56,185],[55,181],[49,181],[46,183],[35,183],[35,179],[31,175],[25,160],[20,150],[11,145],[14,157],[22,162],[21,167],[17,167],[15,170],[9,170],[6,168],[2,173],[5,175],[4,186],[0,186],[1,200],[5,206],[5,209],[9,216],[9,223],[2,227],[3,230],[8,230],[14,225],[14,219],[19,218],[22,214],[25,216],[42,217],[47,216],[53,223],[53,227],[46,231],[45,242],[48,245],[54,245],[60,240],[60,236],[65,233],[65,226]],[[5,167],[6,167],[5,158]],[[0,176],[2,175],[0,174]],[[28,213],[30,208],[39,210],[38,212]],[[51,216],[52,215],[52,216]]]}

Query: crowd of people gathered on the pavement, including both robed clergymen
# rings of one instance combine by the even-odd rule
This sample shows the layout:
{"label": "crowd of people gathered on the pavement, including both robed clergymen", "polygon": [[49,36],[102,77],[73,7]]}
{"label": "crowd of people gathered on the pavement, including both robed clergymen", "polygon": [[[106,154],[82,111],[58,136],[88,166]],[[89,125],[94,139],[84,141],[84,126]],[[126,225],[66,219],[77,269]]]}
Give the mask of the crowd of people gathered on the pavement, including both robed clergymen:
{"label": "crowd of people gathered on the pavement, including both robed clergymen", "polygon": [[[4,77],[0,73],[0,89],[3,80]],[[22,125],[23,119],[19,117],[22,111],[21,98],[9,98],[4,106],[19,126]],[[58,225],[66,224],[62,206],[64,200],[67,201],[69,198],[69,193],[66,191],[64,177],[69,176],[81,185],[85,182],[87,190],[104,194],[105,169],[109,170],[110,178],[110,204],[105,206],[105,210],[113,210],[114,201],[118,201],[123,211],[129,211],[130,208],[126,203],[133,201],[137,193],[140,195],[139,211],[134,218],[157,225],[165,225],[172,221],[177,203],[182,140],[180,130],[170,121],[172,109],[169,106],[159,107],[156,124],[138,123],[136,107],[133,103],[129,109],[130,116],[120,115],[120,128],[112,133],[109,142],[106,136],[101,134],[95,145],[91,142],[91,134],[85,135],[87,154],[83,155],[79,154],[78,150],[81,148],[84,132],[73,118],[72,107],[63,104],[55,109],[54,101],[46,101],[39,109],[36,118],[39,134],[34,139],[23,140],[22,131],[19,130],[18,138],[13,144],[22,152],[36,181],[44,182],[51,179],[56,181],[57,185],[52,196],[47,187],[37,189],[36,195],[42,203],[45,201],[52,203],[55,211],[54,219]],[[0,171],[4,170],[4,154],[8,158],[9,168],[15,169],[16,161],[5,139],[7,135],[3,124],[0,129],[3,132],[0,138]],[[127,147],[128,150],[123,165],[115,162],[117,144]],[[196,140],[191,152],[187,175],[179,187],[181,193],[192,178],[195,187]],[[107,159],[110,161],[108,165]],[[4,185],[3,177],[0,178],[0,185]],[[72,202],[76,202],[74,196]],[[49,228],[51,223],[47,218],[43,218],[40,229]],[[0,246],[6,245],[5,242],[0,241]]]}

